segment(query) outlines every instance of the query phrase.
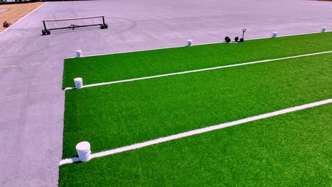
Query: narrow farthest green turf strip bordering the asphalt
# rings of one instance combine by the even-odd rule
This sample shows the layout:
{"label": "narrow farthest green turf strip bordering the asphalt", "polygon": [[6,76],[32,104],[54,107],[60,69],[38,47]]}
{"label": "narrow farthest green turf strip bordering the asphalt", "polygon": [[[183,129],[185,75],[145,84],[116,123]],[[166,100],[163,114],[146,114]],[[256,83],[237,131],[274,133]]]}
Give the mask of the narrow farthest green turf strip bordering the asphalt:
{"label": "narrow farthest green turf strip bordering the asphalt", "polygon": [[197,45],[65,60],[63,88],[332,50],[332,33]]}

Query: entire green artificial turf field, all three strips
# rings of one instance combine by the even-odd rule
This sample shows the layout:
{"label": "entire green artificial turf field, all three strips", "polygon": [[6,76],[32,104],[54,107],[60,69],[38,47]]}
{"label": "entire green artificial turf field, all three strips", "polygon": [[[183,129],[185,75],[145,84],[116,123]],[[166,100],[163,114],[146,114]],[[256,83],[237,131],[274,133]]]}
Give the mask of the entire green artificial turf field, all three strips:
{"label": "entire green artificial turf field, all three strips", "polygon": [[[318,42],[319,41],[319,42]],[[65,60],[63,87],[332,50],[332,33]],[[332,98],[332,53],[66,91],[62,158]],[[87,163],[60,186],[328,186],[327,104]]]}

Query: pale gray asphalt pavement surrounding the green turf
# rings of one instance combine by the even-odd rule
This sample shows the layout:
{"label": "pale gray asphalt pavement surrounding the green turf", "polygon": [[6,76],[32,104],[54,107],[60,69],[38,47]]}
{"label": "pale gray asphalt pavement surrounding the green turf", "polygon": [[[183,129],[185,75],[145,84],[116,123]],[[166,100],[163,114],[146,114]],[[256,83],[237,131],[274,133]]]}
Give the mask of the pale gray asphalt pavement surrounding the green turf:
{"label": "pale gray asphalt pavement surrounding the green turf", "polygon": [[[48,2],[0,33],[0,186],[57,186],[64,57],[220,42],[332,28],[332,2],[121,0]],[[42,36],[40,20],[106,15],[109,29]],[[74,149],[74,147],[73,147]]]}

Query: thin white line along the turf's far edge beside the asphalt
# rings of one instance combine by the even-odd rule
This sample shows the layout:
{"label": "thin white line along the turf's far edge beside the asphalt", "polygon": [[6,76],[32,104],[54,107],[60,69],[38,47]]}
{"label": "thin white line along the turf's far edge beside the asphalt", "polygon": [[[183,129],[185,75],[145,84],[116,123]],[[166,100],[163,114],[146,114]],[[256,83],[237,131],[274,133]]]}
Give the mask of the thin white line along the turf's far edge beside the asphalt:
{"label": "thin white line along the turf's far edge beside the asphalt", "polygon": [[[331,32],[332,32],[332,30],[325,31],[325,33],[331,33]],[[310,34],[319,34],[319,32],[299,33],[299,34],[294,34],[294,35],[310,35]],[[278,35],[277,38],[282,38],[282,37],[287,37],[287,36],[294,36],[294,35]],[[268,38],[272,39],[272,37],[262,37],[262,38],[250,38],[250,39],[246,39],[245,41],[268,39]],[[223,43],[223,42],[205,42],[205,43],[199,43],[197,45],[192,45],[192,46],[210,45],[210,44],[218,44],[218,43]],[[187,45],[178,45],[178,46],[172,46],[172,47],[160,47],[160,48],[153,48],[153,49],[148,49],[148,50],[131,50],[131,51],[124,51],[124,52],[101,53],[101,54],[96,54],[96,55],[82,56],[82,58],[84,58],[84,57],[98,57],[98,56],[104,56],[104,55],[116,55],[116,54],[129,53],[129,52],[143,52],[143,51],[150,51],[150,50],[165,50],[165,49],[172,49],[172,48],[178,48],[178,47],[187,47]],[[72,59],[72,58],[76,58],[76,57],[67,57],[65,59]]]}

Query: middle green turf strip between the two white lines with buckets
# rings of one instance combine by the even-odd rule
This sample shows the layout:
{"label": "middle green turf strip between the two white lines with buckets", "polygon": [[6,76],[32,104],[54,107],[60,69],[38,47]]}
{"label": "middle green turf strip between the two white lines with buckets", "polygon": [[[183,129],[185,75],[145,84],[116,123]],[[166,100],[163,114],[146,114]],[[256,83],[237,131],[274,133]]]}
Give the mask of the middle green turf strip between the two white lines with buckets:
{"label": "middle green turf strip between the two white lines with buckets", "polygon": [[332,54],[66,91],[62,157],[332,98]]}

